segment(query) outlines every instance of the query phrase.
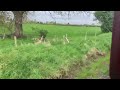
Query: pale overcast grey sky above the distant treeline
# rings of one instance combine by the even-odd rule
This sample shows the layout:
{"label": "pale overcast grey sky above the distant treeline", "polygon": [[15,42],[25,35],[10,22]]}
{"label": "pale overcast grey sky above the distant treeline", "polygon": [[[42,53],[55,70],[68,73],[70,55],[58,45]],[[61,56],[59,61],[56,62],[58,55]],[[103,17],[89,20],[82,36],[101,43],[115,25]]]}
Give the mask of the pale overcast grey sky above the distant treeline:
{"label": "pale overcast grey sky above the distant treeline", "polygon": [[[51,12],[52,13],[52,12]],[[47,21],[56,21],[57,23],[70,23],[70,24],[98,24],[98,21],[93,21],[95,18],[93,14],[81,13],[80,15],[71,15],[68,18],[67,15],[61,16],[52,13],[52,16],[49,12],[36,11],[34,13],[28,14],[30,20],[36,20],[41,22]]]}

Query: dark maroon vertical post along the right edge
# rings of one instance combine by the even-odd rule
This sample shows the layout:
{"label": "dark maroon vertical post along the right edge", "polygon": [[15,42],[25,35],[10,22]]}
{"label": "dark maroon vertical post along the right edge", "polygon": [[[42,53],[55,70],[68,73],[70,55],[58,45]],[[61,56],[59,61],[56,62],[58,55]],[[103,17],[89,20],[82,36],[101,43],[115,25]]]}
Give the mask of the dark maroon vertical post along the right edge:
{"label": "dark maroon vertical post along the right edge", "polygon": [[110,78],[120,79],[120,11],[114,12],[110,57]]}

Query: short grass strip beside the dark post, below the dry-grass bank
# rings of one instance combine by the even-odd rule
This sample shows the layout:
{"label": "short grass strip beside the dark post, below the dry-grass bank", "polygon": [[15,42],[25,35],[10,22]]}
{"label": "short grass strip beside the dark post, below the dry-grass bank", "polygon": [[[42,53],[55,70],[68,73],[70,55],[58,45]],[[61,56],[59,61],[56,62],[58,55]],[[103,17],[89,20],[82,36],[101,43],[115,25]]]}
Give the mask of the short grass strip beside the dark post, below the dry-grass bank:
{"label": "short grass strip beside the dark post, below the dry-grass bank", "polygon": [[110,55],[97,59],[81,68],[76,79],[107,79],[109,77]]}

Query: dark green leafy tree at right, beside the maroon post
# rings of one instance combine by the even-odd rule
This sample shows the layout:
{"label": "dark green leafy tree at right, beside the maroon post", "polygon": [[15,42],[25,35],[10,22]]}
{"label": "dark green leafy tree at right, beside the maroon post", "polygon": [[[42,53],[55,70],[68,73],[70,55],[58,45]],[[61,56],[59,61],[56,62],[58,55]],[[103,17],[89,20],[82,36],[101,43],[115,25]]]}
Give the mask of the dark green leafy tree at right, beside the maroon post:
{"label": "dark green leafy tree at right, beside the maroon post", "polygon": [[113,11],[96,11],[94,15],[101,23],[102,32],[112,32]]}

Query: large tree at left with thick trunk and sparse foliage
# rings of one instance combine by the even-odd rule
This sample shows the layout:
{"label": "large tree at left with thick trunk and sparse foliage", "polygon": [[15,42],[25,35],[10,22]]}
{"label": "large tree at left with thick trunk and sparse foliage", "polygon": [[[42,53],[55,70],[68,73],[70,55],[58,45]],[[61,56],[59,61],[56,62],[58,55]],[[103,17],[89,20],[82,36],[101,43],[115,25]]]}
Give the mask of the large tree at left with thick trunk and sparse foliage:
{"label": "large tree at left with thick trunk and sparse foliage", "polygon": [[11,11],[14,15],[14,19],[9,19],[10,23],[9,25],[7,25],[7,23],[5,23],[7,21],[7,19],[10,17],[9,13],[10,11],[0,11],[0,18],[2,18],[0,20],[0,23],[5,23],[4,26],[6,26],[9,30],[12,28],[12,22],[14,21],[14,33],[11,32],[11,35],[16,36],[17,38],[21,38],[23,37],[23,19],[27,16],[27,11]]}

